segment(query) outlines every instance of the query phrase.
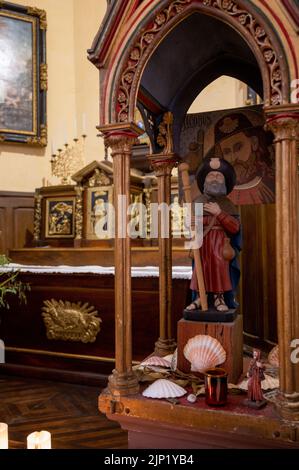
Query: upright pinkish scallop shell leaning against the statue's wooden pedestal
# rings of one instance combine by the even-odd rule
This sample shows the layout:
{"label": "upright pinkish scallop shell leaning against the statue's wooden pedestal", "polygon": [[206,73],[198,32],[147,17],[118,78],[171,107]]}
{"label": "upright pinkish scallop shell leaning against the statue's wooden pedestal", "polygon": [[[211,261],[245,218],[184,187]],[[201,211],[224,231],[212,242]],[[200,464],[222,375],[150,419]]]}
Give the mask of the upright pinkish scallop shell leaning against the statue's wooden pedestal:
{"label": "upright pinkish scallop shell leaning against the statue's wooden pedestal", "polygon": [[209,335],[197,335],[189,339],[184,348],[184,356],[191,362],[192,372],[205,372],[226,361],[225,350],[217,339]]}

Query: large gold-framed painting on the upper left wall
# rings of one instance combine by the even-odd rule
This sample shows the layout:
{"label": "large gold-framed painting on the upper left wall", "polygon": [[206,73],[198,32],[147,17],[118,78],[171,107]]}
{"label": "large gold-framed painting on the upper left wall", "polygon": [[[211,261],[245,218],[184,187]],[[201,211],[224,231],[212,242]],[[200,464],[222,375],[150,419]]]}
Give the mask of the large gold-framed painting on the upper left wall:
{"label": "large gold-framed painting on the upper left wall", "polygon": [[46,12],[0,2],[0,141],[47,145]]}

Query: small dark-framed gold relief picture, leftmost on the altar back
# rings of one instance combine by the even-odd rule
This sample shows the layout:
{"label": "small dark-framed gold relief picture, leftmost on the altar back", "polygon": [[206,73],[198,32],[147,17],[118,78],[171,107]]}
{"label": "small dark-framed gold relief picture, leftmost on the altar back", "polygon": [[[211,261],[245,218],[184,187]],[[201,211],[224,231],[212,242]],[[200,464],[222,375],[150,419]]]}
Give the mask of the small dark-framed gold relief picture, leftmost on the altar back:
{"label": "small dark-framed gold relief picture, leftmost on the altar back", "polygon": [[46,199],[46,238],[75,237],[74,197]]}

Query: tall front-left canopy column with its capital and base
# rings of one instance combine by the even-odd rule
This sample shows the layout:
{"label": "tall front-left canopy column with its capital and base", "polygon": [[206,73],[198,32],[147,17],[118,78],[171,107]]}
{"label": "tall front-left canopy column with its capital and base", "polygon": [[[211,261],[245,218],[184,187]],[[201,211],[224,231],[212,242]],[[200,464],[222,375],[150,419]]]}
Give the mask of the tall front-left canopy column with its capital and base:
{"label": "tall front-left canopy column with its capital and base", "polygon": [[[109,390],[115,397],[138,393],[132,371],[132,291],[131,240],[127,233],[130,205],[130,160],[132,146],[140,129],[134,124],[100,128],[105,145],[111,148],[115,208],[115,370],[109,377]],[[120,204],[122,201],[122,205]]]}

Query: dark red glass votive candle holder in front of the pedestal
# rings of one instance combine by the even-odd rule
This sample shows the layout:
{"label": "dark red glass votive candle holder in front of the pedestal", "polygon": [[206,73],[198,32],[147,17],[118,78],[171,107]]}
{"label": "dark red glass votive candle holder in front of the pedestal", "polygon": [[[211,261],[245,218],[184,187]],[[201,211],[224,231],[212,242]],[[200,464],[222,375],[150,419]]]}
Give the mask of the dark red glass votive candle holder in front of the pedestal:
{"label": "dark red glass votive candle holder in front of the pedestal", "polygon": [[227,372],[215,367],[205,371],[206,404],[224,406],[227,403]]}

